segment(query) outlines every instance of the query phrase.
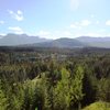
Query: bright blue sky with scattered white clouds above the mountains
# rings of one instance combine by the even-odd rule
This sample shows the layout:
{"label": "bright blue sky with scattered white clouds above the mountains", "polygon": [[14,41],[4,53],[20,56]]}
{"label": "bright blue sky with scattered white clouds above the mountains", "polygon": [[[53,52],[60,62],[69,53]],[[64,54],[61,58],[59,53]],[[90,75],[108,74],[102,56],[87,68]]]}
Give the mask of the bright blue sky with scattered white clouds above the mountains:
{"label": "bright blue sky with scattered white clouds above the mountains", "polygon": [[110,36],[110,0],[0,0],[0,35]]}

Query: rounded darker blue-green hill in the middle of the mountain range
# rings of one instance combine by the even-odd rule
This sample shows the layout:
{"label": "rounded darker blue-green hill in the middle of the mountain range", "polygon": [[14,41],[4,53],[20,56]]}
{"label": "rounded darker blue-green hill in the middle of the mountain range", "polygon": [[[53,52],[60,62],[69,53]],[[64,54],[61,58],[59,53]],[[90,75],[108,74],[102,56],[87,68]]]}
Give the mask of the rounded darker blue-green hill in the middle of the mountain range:
{"label": "rounded darker blue-green hill in the middle of the mountain range", "polygon": [[57,38],[57,40],[53,40],[48,42],[35,43],[35,44],[32,44],[32,46],[73,48],[73,47],[84,47],[86,45],[85,43],[81,43],[76,38],[63,37],[63,38]]}

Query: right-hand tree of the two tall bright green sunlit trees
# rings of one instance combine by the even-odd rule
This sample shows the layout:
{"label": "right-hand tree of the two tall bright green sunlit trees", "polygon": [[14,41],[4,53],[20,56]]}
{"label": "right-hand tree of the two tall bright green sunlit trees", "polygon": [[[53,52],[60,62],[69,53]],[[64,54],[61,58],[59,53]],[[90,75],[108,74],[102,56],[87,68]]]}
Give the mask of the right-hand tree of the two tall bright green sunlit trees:
{"label": "right-hand tree of the two tall bright green sunlit trees", "polygon": [[84,97],[82,94],[82,79],[84,79],[84,68],[79,65],[76,67],[76,72],[74,74],[74,79],[72,78],[70,82],[70,100],[72,107],[76,105],[77,108],[80,108],[80,101]]}

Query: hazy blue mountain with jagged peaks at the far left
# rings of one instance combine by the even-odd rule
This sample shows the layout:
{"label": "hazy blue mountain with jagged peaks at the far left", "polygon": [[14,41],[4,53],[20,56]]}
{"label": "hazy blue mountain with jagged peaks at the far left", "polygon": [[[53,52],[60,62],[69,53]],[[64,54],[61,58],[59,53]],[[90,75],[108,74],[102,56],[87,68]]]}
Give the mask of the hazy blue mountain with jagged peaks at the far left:
{"label": "hazy blue mountain with jagged peaks at the far left", "polygon": [[14,46],[14,45],[24,45],[33,43],[42,43],[48,40],[41,38],[38,36],[29,36],[26,34],[7,34],[0,36],[0,46]]}

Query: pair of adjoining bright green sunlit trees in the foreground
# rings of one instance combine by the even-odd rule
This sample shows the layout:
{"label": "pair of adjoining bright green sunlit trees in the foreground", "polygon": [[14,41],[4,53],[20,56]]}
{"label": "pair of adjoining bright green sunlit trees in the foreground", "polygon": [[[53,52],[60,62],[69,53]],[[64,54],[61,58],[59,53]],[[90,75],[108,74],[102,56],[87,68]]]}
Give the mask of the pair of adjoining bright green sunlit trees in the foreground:
{"label": "pair of adjoining bright green sunlit trees in the foreground", "polygon": [[76,108],[82,99],[82,78],[84,69],[81,66],[76,68],[74,77],[66,69],[62,69],[62,80],[57,82],[55,88],[55,107],[61,110],[68,110],[75,105]]}

